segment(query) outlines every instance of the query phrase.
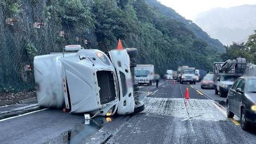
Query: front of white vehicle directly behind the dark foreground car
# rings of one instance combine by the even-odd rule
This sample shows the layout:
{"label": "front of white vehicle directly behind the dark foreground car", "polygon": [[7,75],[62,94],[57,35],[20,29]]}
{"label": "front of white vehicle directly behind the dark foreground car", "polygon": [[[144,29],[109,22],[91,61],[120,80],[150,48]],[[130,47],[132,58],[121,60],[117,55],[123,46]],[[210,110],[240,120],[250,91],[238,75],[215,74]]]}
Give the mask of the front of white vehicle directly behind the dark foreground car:
{"label": "front of white vehicle directly behind the dark foreground car", "polygon": [[230,87],[239,77],[241,77],[240,74],[220,73],[214,79],[215,94],[219,94],[220,97],[226,97]]}

